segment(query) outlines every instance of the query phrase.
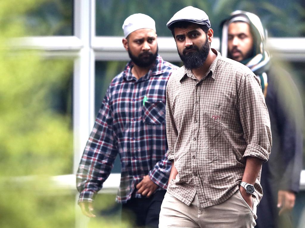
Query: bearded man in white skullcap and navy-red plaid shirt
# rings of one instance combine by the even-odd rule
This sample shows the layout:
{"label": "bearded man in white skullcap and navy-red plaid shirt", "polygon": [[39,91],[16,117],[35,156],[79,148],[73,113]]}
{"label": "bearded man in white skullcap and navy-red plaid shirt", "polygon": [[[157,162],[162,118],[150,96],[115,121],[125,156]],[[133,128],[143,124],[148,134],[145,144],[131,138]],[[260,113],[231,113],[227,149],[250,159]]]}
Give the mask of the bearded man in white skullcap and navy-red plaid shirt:
{"label": "bearded man in white skullcap and navy-red plaid shirt", "polygon": [[110,83],[78,171],[79,205],[95,217],[92,202],[121,161],[116,201],[135,221],[132,227],[158,227],[171,164],[165,133],[166,85],[176,66],[158,55],[155,21],[133,14],[123,24],[123,45],[131,58]]}

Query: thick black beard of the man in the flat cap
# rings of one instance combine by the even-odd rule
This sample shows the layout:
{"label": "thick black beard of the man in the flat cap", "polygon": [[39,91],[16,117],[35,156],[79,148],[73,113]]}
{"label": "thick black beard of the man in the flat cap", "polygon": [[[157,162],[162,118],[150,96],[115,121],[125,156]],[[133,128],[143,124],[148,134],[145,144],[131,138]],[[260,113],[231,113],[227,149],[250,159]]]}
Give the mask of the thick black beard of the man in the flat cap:
{"label": "thick black beard of the man in the flat cap", "polygon": [[[186,51],[194,49],[195,51],[192,51],[188,54],[185,54]],[[188,70],[192,69],[198,69],[203,65],[203,63],[206,61],[206,58],[208,57],[208,54],[210,52],[210,43],[206,37],[206,42],[203,44],[203,46],[199,48],[196,45],[192,45],[188,48],[185,48],[180,54],[178,50],[178,54],[180,56],[180,59],[184,63],[184,67]]]}

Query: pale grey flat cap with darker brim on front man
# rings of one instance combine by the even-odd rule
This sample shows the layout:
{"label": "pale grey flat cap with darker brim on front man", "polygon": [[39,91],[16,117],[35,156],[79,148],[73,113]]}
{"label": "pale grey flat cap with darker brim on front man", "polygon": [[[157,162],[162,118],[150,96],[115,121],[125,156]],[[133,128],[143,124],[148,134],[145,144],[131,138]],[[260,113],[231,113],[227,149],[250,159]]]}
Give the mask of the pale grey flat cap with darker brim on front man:
{"label": "pale grey flat cap with darker brim on front man", "polygon": [[209,17],[206,13],[198,8],[187,6],[177,13],[167,22],[167,28],[171,29],[171,26],[178,21],[189,21],[199,25],[205,25],[208,29],[211,27]]}

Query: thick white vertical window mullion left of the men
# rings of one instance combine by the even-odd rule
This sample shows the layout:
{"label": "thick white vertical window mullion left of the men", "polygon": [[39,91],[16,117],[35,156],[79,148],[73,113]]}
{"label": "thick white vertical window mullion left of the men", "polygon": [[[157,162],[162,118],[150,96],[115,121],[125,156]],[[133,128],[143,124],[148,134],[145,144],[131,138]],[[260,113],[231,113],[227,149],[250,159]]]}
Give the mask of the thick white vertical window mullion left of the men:
{"label": "thick white vertical window mullion left of the men", "polygon": [[[83,44],[79,57],[74,60],[74,174],[76,174],[81,155],[94,121],[95,57],[94,52],[91,49],[90,41],[92,37],[92,24],[95,26],[95,21],[91,21],[91,15],[95,12],[91,12],[92,4],[95,4],[95,1],[74,0],[74,35],[78,37]],[[78,194],[76,194],[76,201],[77,199]],[[81,215],[81,211],[77,204],[75,207],[75,227],[87,227],[88,218]]]}

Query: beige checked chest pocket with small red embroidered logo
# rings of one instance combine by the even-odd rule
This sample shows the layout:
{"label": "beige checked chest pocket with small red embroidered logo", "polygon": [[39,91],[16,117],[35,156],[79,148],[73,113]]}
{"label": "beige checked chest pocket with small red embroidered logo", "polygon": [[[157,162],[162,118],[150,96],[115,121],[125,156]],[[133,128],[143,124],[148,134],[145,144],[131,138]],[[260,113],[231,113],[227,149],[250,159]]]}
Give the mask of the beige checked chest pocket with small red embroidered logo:
{"label": "beige checked chest pocket with small red embroidered logo", "polygon": [[207,101],[203,109],[203,126],[214,130],[228,130],[228,117],[232,105]]}

